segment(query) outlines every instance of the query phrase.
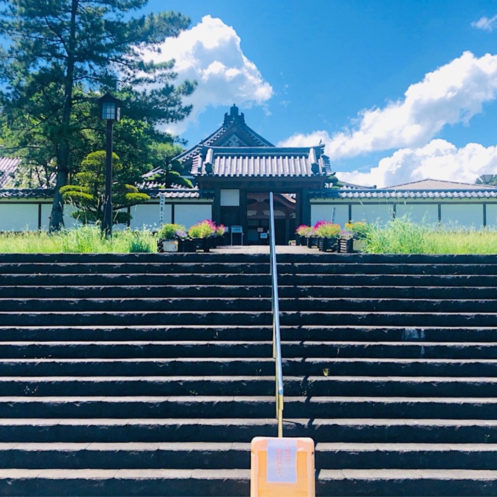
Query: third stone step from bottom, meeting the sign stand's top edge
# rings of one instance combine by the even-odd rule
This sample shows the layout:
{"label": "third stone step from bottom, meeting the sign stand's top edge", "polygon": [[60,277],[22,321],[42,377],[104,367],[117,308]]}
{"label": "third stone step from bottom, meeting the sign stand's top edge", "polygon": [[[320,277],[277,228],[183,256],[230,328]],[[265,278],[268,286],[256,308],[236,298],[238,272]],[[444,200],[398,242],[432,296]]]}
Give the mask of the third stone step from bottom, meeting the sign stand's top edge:
{"label": "third stone step from bottom, meeting the sign stand's top edge", "polygon": [[[3,418],[0,442],[248,443],[276,429],[274,418]],[[497,443],[495,419],[285,417],[283,429],[317,443]]]}

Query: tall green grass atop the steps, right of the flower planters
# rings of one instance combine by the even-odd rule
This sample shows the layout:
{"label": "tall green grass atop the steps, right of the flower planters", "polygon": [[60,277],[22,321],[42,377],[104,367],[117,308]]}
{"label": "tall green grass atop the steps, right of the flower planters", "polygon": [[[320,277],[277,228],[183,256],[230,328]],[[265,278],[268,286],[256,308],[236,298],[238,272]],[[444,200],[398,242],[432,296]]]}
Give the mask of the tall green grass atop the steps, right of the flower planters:
{"label": "tall green grass atop the steps, right of the flower planters", "polygon": [[497,231],[428,227],[405,218],[398,218],[383,227],[370,225],[364,251],[369,253],[497,253]]}

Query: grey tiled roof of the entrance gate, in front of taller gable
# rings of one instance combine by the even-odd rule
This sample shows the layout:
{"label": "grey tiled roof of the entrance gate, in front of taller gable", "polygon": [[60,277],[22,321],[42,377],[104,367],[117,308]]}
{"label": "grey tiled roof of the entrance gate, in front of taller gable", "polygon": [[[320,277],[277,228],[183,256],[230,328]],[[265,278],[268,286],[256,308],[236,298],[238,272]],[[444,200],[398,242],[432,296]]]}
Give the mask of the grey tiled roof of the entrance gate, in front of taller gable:
{"label": "grey tiled roof of the entrance gate, in front of taller gable", "polygon": [[204,148],[192,166],[195,175],[302,177],[331,174],[324,145],[304,147]]}

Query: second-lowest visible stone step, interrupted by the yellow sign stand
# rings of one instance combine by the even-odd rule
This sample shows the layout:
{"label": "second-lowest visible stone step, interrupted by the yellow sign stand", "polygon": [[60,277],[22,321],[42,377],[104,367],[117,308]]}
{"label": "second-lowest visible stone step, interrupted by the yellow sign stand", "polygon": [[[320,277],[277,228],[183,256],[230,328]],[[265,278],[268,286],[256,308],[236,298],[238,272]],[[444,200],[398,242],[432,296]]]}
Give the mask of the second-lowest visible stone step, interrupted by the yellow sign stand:
{"label": "second-lowest visible stone step, interrupted by the yellow sign stand", "polygon": [[[319,469],[495,470],[497,444],[319,442]],[[242,442],[0,443],[1,468],[250,469]]]}

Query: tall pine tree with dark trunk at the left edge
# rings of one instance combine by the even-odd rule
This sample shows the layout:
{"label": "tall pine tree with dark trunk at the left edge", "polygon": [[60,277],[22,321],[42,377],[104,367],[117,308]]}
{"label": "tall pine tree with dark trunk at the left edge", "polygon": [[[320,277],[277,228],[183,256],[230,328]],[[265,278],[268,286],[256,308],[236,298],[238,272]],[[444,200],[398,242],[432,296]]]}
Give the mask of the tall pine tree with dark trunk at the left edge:
{"label": "tall pine tree with dark trunk at the left edge", "polygon": [[[42,137],[53,153],[50,231],[62,227],[59,188],[81,161],[85,131],[91,127],[78,118],[78,107],[88,105],[89,93],[118,91],[133,118],[152,126],[179,121],[191,110],[182,97],[191,94],[195,83],[174,85],[172,62],[155,64],[141,57],[143,49],[158,50],[166,37],[177,36],[189,19],[173,12],[131,16],[146,3],[0,0],[0,35],[9,41],[0,53],[3,119],[16,136],[24,137],[28,156],[30,148],[36,150],[36,144],[28,143],[33,136]],[[137,90],[147,83],[161,84]]]}

